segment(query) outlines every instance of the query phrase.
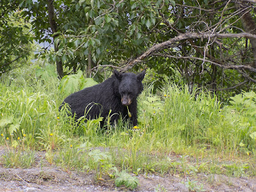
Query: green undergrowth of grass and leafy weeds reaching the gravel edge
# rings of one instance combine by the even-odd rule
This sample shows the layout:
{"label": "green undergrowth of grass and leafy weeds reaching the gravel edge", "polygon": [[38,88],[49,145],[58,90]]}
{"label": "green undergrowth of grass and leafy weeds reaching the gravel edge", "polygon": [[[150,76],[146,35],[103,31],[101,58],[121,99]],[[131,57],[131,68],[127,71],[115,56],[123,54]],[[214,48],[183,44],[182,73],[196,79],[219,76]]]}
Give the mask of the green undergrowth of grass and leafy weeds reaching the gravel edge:
{"label": "green undergrowth of grass and leafy weeds reaching the gravel edge", "polygon": [[[59,81],[47,70],[52,68],[1,78],[0,143],[12,149],[1,159],[6,166],[33,164],[33,156],[26,160],[21,152],[33,148],[46,150],[51,164],[96,170],[97,179],[102,174],[119,175],[118,185],[125,184],[126,172],[256,175],[255,165],[244,163],[255,160],[256,93],[244,92],[221,104],[212,93],[189,93],[185,85],[166,84],[156,94],[145,85],[138,98],[138,125],[129,127],[121,119],[116,125],[107,122],[101,130],[102,118],[77,122],[65,115],[67,108],[58,111],[70,81],[80,83],[76,89],[95,82],[81,73]],[[20,158],[30,163],[20,164]],[[136,187],[137,180],[129,180],[128,188]]]}

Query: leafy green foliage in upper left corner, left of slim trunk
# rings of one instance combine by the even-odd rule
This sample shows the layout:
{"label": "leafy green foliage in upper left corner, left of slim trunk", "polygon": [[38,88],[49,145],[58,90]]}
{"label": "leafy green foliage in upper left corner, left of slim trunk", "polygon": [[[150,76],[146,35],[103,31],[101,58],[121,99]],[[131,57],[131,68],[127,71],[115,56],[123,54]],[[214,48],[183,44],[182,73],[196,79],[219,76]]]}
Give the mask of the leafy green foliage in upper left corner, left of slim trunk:
{"label": "leafy green foliage in upper left corner, left of slim trunk", "polygon": [[17,12],[15,1],[0,4],[0,76],[27,62],[31,54],[33,38],[29,34],[30,24]]}

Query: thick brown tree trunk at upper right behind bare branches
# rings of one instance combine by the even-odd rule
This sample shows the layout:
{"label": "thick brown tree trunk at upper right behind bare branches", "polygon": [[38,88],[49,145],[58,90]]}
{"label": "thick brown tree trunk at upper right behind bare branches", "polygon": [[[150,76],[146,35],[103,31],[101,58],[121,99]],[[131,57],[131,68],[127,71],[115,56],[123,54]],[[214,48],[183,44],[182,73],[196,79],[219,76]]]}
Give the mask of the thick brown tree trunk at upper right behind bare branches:
{"label": "thick brown tree trunk at upper right behind bare branches", "polygon": [[[236,9],[239,10],[243,8],[243,11],[239,12],[239,17],[243,24],[244,31],[246,31],[247,33],[252,33],[256,35],[255,20],[250,14],[251,8],[248,6],[248,3],[243,2],[242,4],[243,4],[243,7],[240,4],[236,3]],[[256,38],[251,37],[249,39],[250,39],[250,44],[252,45],[252,52],[254,56],[254,62],[252,67],[256,68]]]}

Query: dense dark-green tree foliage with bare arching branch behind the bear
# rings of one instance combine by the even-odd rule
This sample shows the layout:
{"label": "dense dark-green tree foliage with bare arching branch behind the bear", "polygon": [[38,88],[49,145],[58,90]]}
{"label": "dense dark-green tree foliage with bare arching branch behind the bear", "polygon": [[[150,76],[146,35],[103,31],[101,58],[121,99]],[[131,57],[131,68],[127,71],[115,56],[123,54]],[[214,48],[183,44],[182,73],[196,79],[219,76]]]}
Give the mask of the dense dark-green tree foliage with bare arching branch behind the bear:
{"label": "dense dark-green tree foliage with bare arching branch behind the bear", "polygon": [[99,72],[106,67],[147,67],[154,69],[157,85],[172,78],[188,84],[190,92],[204,87],[222,99],[255,88],[255,4],[249,1],[19,0],[3,5],[2,13],[20,8],[38,42],[54,40],[54,50],[42,58],[56,62],[60,77],[81,69],[102,78]]}

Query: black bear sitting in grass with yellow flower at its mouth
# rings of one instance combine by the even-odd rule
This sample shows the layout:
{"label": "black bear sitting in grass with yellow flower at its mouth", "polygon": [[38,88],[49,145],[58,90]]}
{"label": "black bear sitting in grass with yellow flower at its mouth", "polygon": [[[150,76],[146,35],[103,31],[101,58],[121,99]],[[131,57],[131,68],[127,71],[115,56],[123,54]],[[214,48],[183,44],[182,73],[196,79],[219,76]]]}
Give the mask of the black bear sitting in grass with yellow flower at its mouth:
{"label": "black bear sitting in grass with yellow flower at its mouth", "polygon": [[114,70],[114,74],[106,81],[69,95],[60,108],[67,103],[76,118],[102,116],[104,120],[111,110],[111,123],[122,115],[137,125],[137,97],[143,91],[141,81],[144,76],[145,70],[138,75]]}

